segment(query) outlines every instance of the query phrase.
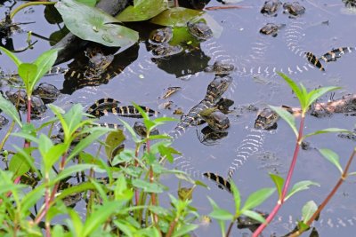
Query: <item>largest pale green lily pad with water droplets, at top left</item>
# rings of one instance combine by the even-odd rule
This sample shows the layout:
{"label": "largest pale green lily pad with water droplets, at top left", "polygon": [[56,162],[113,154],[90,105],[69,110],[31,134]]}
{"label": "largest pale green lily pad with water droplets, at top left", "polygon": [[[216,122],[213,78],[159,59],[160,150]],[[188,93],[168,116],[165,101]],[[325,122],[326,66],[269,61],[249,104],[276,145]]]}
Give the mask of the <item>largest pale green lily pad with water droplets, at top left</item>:
{"label": "largest pale green lily pad with water droplets, at top left", "polygon": [[106,46],[125,47],[139,38],[136,31],[117,25],[118,20],[100,9],[73,0],[62,0],[55,7],[61,13],[66,27],[81,39]]}

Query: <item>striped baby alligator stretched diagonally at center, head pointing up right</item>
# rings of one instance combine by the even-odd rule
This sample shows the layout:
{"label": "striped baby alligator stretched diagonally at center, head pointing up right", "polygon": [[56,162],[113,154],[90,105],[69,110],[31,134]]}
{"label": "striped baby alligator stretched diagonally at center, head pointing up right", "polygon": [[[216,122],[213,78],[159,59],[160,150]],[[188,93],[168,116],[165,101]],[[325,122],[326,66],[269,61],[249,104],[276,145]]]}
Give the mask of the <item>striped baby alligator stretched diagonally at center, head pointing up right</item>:
{"label": "striped baby alligator stretched diagonally at center, head pointing up right", "polygon": [[223,96],[223,93],[228,90],[231,82],[232,77],[229,75],[215,76],[214,80],[207,86],[205,98],[197,106],[192,107],[174,130],[171,130],[168,134],[173,138],[180,137],[190,125],[201,119],[200,112],[214,107],[214,104]]}

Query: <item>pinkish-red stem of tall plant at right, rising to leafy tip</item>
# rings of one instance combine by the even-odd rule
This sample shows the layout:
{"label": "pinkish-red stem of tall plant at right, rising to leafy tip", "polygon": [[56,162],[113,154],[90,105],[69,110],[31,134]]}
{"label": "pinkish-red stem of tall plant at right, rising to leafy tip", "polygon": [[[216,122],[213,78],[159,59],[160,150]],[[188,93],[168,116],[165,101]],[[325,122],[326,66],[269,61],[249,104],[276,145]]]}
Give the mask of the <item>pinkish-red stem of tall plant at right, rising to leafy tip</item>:
{"label": "pinkish-red stem of tall plant at right, rising to leafy tip", "polygon": [[258,235],[260,235],[263,232],[264,228],[269,223],[271,223],[271,220],[277,215],[280,207],[283,205],[284,199],[286,198],[286,194],[287,194],[287,190],[288,190],[290,181],[291,181],[292,176],[293,176],[293,171],[295,170],[296,159],[298,157],[299,147],[300,147],[300,144],[301,144],[302,138],[303,138],[304,119],[305,119],[305,115],[302,114],[301,121],[300,121],[300,124],[299,124],[298,138],[296,139],[296,144],[295,144],[295,152],[293,154],[292,162],[291,162],[291,164],[289,166],[286,182],[284,183],[284,186],[283,186],[283,189],[282,189],[282,194],[279,197],[279,201],[277,201],[276,206],[274,206],[274,208],[272,209],[270,215],[266,218],[266,221],[263,224],[261,224],[260,226],[258,226],[258,228],[255,230],[255,232],[252,235],[253,237],[257,237]]}

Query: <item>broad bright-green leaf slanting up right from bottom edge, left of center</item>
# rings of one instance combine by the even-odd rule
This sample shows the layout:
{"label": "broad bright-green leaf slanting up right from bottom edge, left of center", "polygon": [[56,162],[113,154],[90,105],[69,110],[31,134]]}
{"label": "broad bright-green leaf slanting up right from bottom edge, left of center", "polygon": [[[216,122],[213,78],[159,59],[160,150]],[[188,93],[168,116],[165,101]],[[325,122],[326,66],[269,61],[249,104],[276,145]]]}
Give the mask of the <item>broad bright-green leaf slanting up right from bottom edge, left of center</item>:
{"label": "broad bright-green leaf slanting up right from bottom edge, left of center", "polygon": [[101,206],[97,206],[92,215],[86,219],[82,236],[89,236],[118,209],[121,209],[119,201],[106,201]]}

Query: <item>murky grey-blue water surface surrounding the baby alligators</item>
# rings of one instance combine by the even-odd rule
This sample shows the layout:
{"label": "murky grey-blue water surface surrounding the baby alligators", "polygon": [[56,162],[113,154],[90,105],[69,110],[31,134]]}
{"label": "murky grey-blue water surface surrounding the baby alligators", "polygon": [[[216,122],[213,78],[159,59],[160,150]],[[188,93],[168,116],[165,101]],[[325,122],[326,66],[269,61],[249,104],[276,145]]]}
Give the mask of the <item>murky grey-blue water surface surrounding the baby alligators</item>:
{"label": "murky grey-blue water surface surrounding the baby alligators", "polygon": [[[209,64],[214,63],[218,55],[229,54],[231,59],[238,67],[245,67],[247,71],[252,70],[253,75],[234,74],[234,83],[230,91],[225,96],[235,101],[235,107],[254,104],[256,107],[266,105],[279,106],[281,104],[297,106],[297,102],[291,93],[287,84],[279,76],[271,76],[273,67],[283,72],[293,71],[291,77],[295,81],[303,83],[308,90],[319,86],[338,85],[343,90],[336,91],[334,98],[338,99],[346,93],[354,93],[356,73],[355,61],[356,53],[344,55],[336,62],[331,62],[326,67],[326,73],[321,73],[316,68],[303,66],[306,59],[297,56],[287,48],[287,30],[295,25],[300,28],[299,45],[304,51],[312,51],[316,55],[322,55],[332,48],[355,46],[356,39],[356,15],[345,14],[344,4],[341,1],[303,1],[305,14],[298,19],[289,19],[286,14],[279,11],[277,17],[266,17],[259,13],[264,1],[248,1],[241,4],[247,6],[239,10],[222,10],[209,12],[214,20],[223,26],[223,34],[218,39],[214,39],[216,45],[223,45],[223,52],[217,52],[213,48],[212,42],[202,43],[202,50],[207,57],[210,57]],[[212,3],[210,5],[216,5]],[[4,7],[1,12],[4,12]],[[16,16],[16,21],[34,21],[36,23],[23,27],[24,30],[32,30],[37,34],[48,37],[53,31],[58,30],[56,25],[49,25],[43,18],[43,7],[36,7],[26,10],[23,14]],[[327,21],[328,24],[322,22]],[[262,36],[258,33],[259,29],[265,23],[285,23],[286,28],[279,31],[277,37]],[[16,49],[25,47],[26,34],[17,34],[14,36],[14,46]],[[207,58],[198,55],[190,55],[184,59],[172,58],[169,61],[160,63],[158,66],[151,62],[150,52],[146,50],[144,43],[140,47],[129,49],[130,54],[138,53],[137,59],[129,67],[125,67],[124,73],[111,79],[108,84],[99,87],[85,87],[84,89],[74,91],[71,95],[62,95],[55,102],[57,106],[69,107],[70,103],[82,103],[85,106],[93,104],[96,99],[110,97],[118,99],[123,104],[130,104],[131,101],[142,104],[154,109],[158,109],[162,115],[172,115],[173,110],[164,110],[158,108],[158,105],[167,100],[174,101],[174,107],[182,107],[187,112],[203,99],[206,93],[206,85],[211,82],[214,75],[199,73],[191,76],[177,76],[186,74],[188,71],[202,70]],[[39,39],[35,45],[34,51],[20,53],[20,59],[23,61],[34,59],[40,52],[49,49],[50,45],[44,40]],[[219,51],[221,49],[218,49]],[[127,53],[127,52],[124,52]],[[130,55],[127,54],[127,55]],[[127,57],[127,56],[125,56]],[[135,56],[134,56],[135,58]],[[125,59],[122,54],[117,54],[116,60]],[[6,72],[14,69],[12,62],[4,55],[0,56],[1,67]],[[123,60],[124,61],[124,60]],[[66,67],[66,65],[62,65]],[[296,66],[303,71],[298,72]],[[258,74],[260,71],[268,71]],[[268,68],[267,68],[268,67]],[[289,67],[289,70],[288,70]],[[188,69],[187,69],[188,68]],[[198,69],[197,69],[198,68]],[[253,69],[251,69],[253,68]],[[267,68],[267,69],[266,69]],[[45,77],[44,82],[53,83],[62,88],[63,75]],[[175,93],[169,99],[158,99],[162,96],[169,86],[181,86],[182,91]],[[328,100],[330,94],[323,97],[324,101]],[[202,127],[190,128],[182,138],[174,141],[174,146],[182,151],[186,157],[185,161],[190,161],[192,171],[213,171],[221,175],[227,174],[227,170],[232,160],[236,158],[237,147],[241,141],[251,132],[255,121],[255,112],[238,113],[239,110],[230,116],[231,128],[229,135],[219,141],[214,146],[202,144],[197,134]],[[238,116],[239,114],[239,116]],[[178,118],[178,117],[177,117]],[[107,118],[108,122],[116,122],[114,116]],[[133,122],[133,120],[130,120]],[[133,122],[134,123],[134,122]],[[320,130],[329,127],[338,127],[352,130],[355,120],[352,116],[332,115],[327,118],[307,117],[305,132]],[[168,124],[162,130],[170,130],[174,124]],[[4,136],[4,130],[0,131],[0,136]],[[271,179],[268,177],[269,172],[277,172],[282,176],[287,174],[287,167],[291,160],[295,138],[285,122],[279,121],[278,130],[273,132],[265,131],[263,146],[260,152],[250,156],[247,162],[235,172],[233,180],[239,186],[243,199],[247,194],[254,192],[256,189],[272,186]],[[13,138],[16,143],[16,138]],[[320,135],[319,137],[308,140],[312,146],[317,148],[328,147],[340,155],[342,164],[352,153],[354,142],[346,139],[337,138],[336,134]],[[21,142],[19,141],[21,144]],[[320,183],[320,187],[312,187],[310,190],[296,194],[294,198],[287,201],[286,205],[280,210],[279,214],[285,219],[288,215],[294,218],[301,216],[301,209],[306,201],[316,201],[320,203],[331,190],[338,178],[338,171],[334,166],[326,162],[316,150],[301,151],[298,158],[295,171],[294,181],[310,179]],[[197,169],[198,167],[198,169]],[[189,167],[190,168],[190,167]],[[188,169],[190,170],[190,169]],[[175,184],[171,180],[165,180],[168,186],[174,190]],[[218,189],[210,181],[211,190],[198,189],[194,196],[194,205],[202,213],[211,211],[206,195],[212,197],[221,207],[233,209],[231,194]],[[277,194],[270,201],[263,204],[261,209],[268,211],[277,199]],[[352,236],[356,228],[356,191],[354,180],[346,182],[336,195],[335,199],[328,205],[328,208],[321,215],[324,223],[317,224],[320,236]],[[338,217],[343,220],[338,222]],[[330,227],[325,222],[332,220],[334,227]],[[353,224],[353,225],[352,225]],[[283,223],[274,223],[264,232],[264,236],[270,236],[271,233],[287,233],[290,226]],[[216,223],[208,227],[199,229],[199,236],[218,236],[220,230]],[[234,228],[232,236],[241,236],[243,233],[249,234],[247,230],[237,230]]]}

